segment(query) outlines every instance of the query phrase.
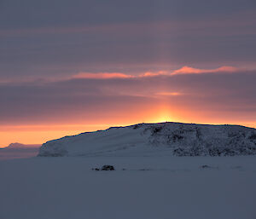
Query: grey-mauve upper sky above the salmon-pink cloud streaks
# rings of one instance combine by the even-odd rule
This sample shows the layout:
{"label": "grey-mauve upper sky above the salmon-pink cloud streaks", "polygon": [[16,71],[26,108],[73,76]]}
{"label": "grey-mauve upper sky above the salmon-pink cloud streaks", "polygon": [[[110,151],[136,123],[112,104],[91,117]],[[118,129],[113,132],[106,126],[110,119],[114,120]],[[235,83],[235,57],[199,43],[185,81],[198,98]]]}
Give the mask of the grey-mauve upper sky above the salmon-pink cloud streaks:
{"label": "grey-mauve upper sky above the salmon-pink cloud streaks", "polygon": [[0,3],[0,79],[255,64],[253,0]]}

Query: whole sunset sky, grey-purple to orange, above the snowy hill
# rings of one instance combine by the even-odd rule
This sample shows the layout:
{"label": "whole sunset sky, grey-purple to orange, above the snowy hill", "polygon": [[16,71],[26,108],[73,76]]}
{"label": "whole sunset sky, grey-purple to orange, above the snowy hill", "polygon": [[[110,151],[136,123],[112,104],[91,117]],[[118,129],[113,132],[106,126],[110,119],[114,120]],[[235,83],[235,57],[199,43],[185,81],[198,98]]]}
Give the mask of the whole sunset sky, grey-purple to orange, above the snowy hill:
{"label": "whole sunset sky, grey-purple to orange, above the snowy hill", "polygon": [[0,0],[0,147],[148,122],[256,127],[254,0]]}

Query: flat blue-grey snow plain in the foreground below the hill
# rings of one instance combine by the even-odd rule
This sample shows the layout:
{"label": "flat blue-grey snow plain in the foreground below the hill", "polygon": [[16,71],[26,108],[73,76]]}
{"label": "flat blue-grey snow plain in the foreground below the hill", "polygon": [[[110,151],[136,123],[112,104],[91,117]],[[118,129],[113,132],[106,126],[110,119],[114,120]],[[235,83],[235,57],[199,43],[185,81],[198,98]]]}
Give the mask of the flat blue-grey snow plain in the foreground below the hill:
{"label": "flat blue-grey snow plain in the foreground below the hill", "polygon": [[[116,170],[91,170],[103,164]],[[39,157],[0,172],[1,219],[256,218],[255,156]]]}

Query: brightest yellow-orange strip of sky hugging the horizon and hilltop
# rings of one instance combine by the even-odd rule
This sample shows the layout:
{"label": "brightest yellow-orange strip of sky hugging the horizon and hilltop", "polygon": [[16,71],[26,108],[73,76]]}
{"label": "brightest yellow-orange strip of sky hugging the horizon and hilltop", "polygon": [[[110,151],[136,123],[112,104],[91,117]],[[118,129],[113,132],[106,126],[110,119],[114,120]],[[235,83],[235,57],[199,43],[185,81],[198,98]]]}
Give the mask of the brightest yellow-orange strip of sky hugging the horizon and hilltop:
{"label": "brightest yellow-orange strip of sky hugging the horizon and hilltop", "polygon": [[[168,115],[161,114],[159,118],[143,119],[143,121],[132,121],[129,123],[109,123],[109,124],[44,124],[44,125],[15,125],[5,126],[7,130],[3,131],[0,129],[0,135],[4,136],[1,139],[0,147],[7,147],[10,143],[19,142],[22,144],[43,144],[46,141],[58,139],[67,135],[78,135],[83,132],[92,132],[96,130],[107,130],[110,127],[115,126],[128,126],[132,124],[151,124],[151,123],[185,123],[185,124],[227,124],[224,122],[209,122],[204,123],[202,121],[196,123],[195,121],[189,120],[176,120],[170,118]],[[229,123],[231,124],[231,123]],[[243,125],[250,128],[256,128],[256,123],[234,123],[234,125]],[[14,138],[15,135],[15,138]]]}

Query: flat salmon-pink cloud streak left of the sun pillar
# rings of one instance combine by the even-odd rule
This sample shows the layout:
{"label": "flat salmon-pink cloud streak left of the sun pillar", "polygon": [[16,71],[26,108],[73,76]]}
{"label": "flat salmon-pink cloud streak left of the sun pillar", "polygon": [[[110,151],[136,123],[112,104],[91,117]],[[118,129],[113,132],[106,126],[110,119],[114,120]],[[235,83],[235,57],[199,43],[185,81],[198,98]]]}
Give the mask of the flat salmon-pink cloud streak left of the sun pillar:
{"label": "flat salmon-pink cloud streak left of the sun pillar", "polygon": [[73,78],[91,78],[91,79],[108,79],[108,78],[134,78],[132,75],[120,73],[120,72],[79,72],[74,75]]}

